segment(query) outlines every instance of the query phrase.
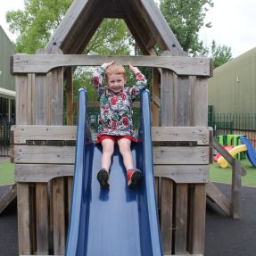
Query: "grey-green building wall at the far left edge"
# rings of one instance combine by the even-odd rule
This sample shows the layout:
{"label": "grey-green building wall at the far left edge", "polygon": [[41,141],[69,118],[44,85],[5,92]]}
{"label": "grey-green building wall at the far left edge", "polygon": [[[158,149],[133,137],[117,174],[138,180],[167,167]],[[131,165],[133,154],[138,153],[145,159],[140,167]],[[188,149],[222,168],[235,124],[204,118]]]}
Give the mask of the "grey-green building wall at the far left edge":
{"label": "grey-green building wall at the far left edge", "polygon": [[9,37],[0,26],[0,87],[15,91],[14,77],[10,74],[10,57],[15,48]]}

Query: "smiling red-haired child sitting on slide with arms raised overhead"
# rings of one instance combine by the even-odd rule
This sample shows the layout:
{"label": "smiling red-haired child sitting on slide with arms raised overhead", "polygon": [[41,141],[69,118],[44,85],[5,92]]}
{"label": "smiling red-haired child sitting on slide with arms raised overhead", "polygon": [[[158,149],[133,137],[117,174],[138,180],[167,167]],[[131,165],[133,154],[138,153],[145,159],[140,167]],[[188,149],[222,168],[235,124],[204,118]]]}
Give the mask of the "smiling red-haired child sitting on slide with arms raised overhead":
{"label": "smiling red-haired child sitting on slide with arms raised overhead", "polygon": [[131,142],[136,142],[132,123],[132,102],[146,86],[145,76],[129,63],[129,69],[136,74],[136,85],[125,87],[126,71],[116,63],[103,63],[95,70],[93,82],[100,98],[100,118],[97,143],[103,146],[101,169],[97,179],[102,188],[109,187],[109,173],[114,144],[117,143],[127,169],[128,186],[137,186],[142,172],[134,168]]}

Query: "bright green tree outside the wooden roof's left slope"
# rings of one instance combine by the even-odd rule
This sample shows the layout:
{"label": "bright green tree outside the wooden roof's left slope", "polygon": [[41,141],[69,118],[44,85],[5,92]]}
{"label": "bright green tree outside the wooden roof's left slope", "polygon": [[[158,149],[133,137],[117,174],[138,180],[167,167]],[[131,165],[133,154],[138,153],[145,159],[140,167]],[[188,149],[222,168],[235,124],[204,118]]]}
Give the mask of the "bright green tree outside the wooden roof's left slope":
{"label": "bright green tree outside the wooden roof's left slope", "polygon": [[19,36],[15,47],[20,53],[34,54],[44,48],[62,21],[72,0],[24,0],[24,11],[6,14],[10,31]]}

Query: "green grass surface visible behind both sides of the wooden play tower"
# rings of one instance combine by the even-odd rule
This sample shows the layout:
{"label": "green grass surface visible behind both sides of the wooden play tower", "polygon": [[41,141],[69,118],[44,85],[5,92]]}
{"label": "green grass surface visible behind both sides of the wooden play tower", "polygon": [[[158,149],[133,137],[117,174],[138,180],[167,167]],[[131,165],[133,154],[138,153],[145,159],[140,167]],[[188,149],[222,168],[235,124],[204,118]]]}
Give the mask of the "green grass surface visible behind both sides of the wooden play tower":
{"label": "green grass surface visible behind both sides of the wooden play tower", "polygon": [[[247,170],[246,176],[242,177],[243,186],[256,186],[256,169],[252,167],[250,161],[242,160],[244,169]],[[209,178],[212,182],[231,184],[232,169],[222,169],[217,163],[210,165]],[[0,186],[14,182],[14,164],[9,160],[0,163]]]}

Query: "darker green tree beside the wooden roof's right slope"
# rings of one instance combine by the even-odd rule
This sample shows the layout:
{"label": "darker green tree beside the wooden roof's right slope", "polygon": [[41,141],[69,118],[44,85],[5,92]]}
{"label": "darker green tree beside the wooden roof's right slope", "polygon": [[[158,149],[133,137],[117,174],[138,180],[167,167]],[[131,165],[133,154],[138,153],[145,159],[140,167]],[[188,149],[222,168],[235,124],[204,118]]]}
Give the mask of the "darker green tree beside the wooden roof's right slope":
{"label": "darker green tree beside the wooden roof's right slope", "polygon": [[[213,6],[211,0],[161,0],[161,12],[179,44],[188,54],[204,52],[198,32],[203,26],[208,7]],[[205,26],[211,28],[211,22]]]}

